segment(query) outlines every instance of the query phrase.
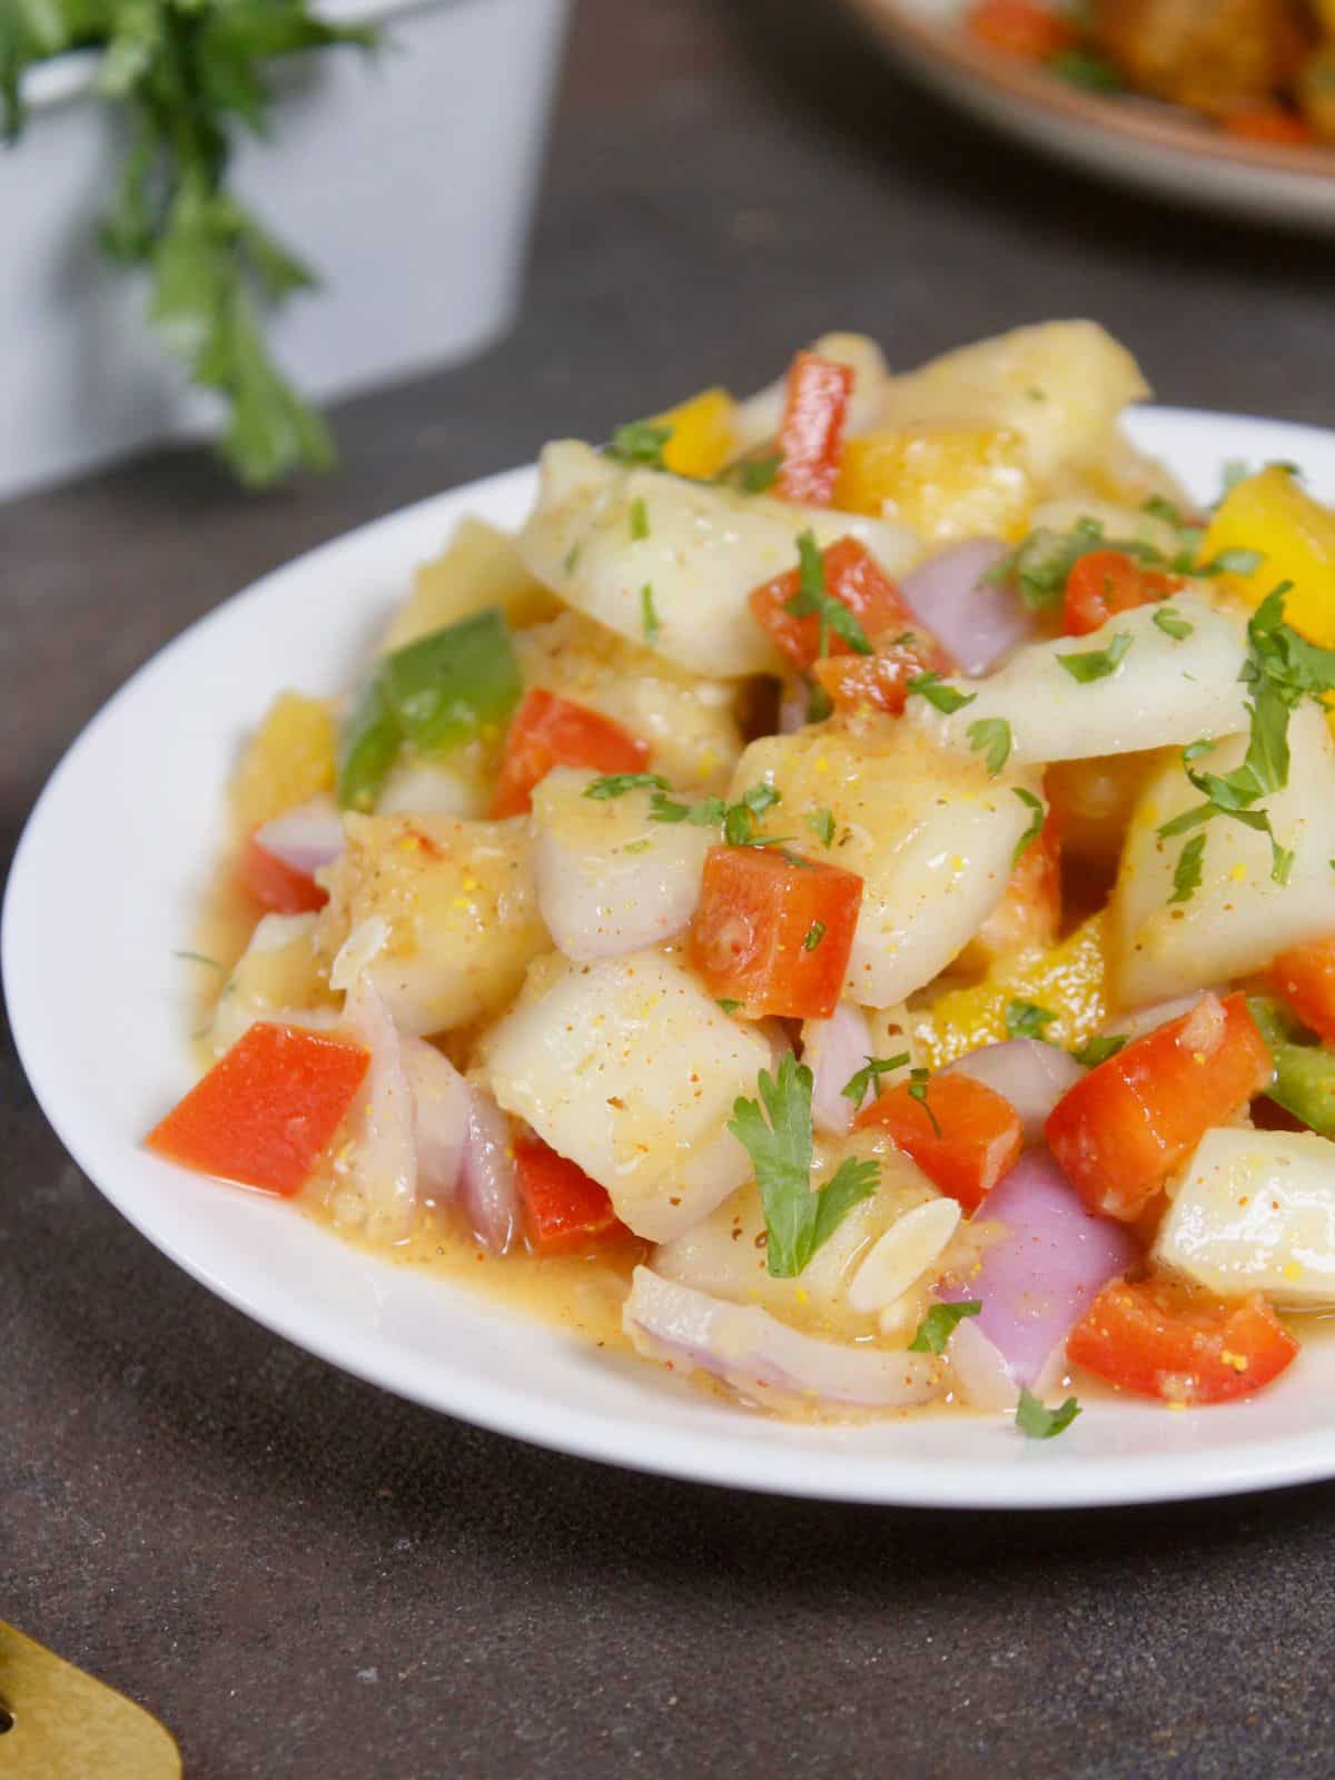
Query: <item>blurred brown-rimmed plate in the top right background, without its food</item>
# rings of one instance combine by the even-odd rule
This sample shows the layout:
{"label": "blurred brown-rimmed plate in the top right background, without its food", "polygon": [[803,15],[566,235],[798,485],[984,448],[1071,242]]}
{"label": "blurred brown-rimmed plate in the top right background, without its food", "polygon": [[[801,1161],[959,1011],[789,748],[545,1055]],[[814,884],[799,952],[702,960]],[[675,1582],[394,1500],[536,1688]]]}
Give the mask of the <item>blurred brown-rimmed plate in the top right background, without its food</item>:
{"label": "blurred brown-rimmed plate in the top right background, without its food", "polygon": [[927,85],[1031,148],[1234,217],[1335,233],[1335,148],[1225,135],[1175,105],[1084,93],[961,28],[967,0],[849,0]]}

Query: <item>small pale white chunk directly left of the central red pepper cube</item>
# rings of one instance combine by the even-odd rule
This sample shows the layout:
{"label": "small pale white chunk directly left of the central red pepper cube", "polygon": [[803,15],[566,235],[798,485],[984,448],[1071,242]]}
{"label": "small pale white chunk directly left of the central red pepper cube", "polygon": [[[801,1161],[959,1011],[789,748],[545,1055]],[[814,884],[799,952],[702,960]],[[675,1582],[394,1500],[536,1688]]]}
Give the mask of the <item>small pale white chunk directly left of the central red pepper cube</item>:
{"label": "small pale white chunk directly left of the central red pepper cube", "polygon": [[717,826],[655,822],[648,790],[587,797],[593,783],[557,767],[532,796],[538,906],[557,947],[578,963],[678,934],[719,838]]}

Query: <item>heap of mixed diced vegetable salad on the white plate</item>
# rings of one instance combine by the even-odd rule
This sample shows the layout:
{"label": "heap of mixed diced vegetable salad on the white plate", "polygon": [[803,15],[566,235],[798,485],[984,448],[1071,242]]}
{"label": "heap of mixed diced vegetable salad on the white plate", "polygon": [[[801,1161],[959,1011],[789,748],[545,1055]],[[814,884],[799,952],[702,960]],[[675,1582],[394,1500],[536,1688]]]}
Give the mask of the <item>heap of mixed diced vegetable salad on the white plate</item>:
{"label": "heap of mixed diced vegetable salad on the white plate", "polygon": [[1335,1305],[1335,513],[1282,463],[1196,511],[1146,393],[1091,322],[828,335],[548,445],[246,740],[150,1150],[778,1415],[1285,1374]]}

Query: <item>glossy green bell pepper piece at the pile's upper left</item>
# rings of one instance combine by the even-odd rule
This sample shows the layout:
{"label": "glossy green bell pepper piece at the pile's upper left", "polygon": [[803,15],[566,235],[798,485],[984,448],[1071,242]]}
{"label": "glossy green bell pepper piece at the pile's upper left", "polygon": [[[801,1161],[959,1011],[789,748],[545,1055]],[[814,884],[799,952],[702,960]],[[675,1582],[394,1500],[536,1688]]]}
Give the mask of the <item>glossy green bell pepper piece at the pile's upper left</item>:
{"label": "glossy green bell pepper piece at the pile's upper left", "polygon": [[459,748],[486,730],[498,733],[523,691],[495,607],[386,655],[377,678],[404,740],[424,755]]}

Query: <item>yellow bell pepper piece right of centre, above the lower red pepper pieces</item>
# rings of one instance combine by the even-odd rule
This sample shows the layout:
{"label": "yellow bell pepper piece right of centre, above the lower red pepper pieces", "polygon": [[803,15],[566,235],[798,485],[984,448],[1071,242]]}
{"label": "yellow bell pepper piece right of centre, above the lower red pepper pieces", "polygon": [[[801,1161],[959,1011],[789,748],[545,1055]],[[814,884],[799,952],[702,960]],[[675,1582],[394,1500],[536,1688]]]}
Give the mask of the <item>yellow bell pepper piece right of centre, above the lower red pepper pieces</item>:
{"label": "yellow bell pepper piece right of centre, above the lower red pepper pieces", "polygon": [[1056,1015],[1043,1038],[1072,1048],[1091,1040],[1107,1018],[1107,911],[1091,915],[1047,952],[1029,952],[991,970],[983,983],[951,990],[910,1016],[915,1056],[940,1070],[981,1045],[1000,1045],[1006,1007],[1032,1002]]}

